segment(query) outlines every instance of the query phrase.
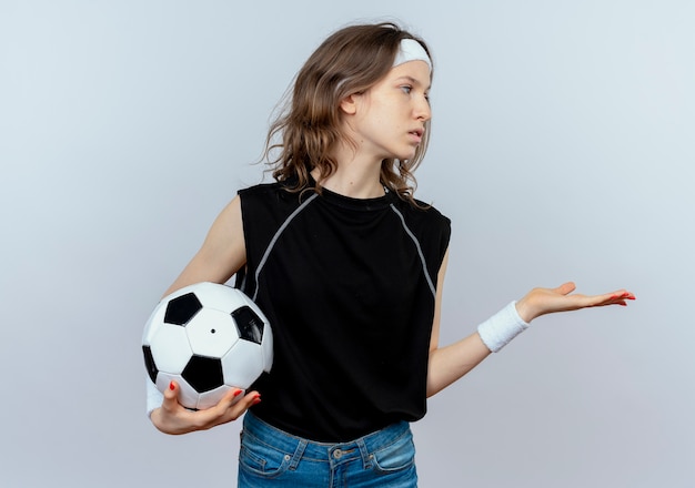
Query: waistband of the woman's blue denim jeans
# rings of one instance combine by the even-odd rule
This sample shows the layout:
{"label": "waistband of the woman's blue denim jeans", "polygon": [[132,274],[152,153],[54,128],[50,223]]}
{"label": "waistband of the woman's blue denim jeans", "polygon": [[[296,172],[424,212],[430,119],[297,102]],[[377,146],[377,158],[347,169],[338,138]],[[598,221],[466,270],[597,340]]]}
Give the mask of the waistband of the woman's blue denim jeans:
{"label": "waistband of the woman's blue denim jeans", "polygon": [[399,421],[366,436],[345,443],[316,443],[302,437],[293,436],[273,427],[246,411],[243,420],[243,435],[251,435],[260,441],[284,451],[292,457],[304,459],[325,460],[335,462],[348,458],[371,457],[371,454],[391,446],[403,435],[410,434],[410,424]]}

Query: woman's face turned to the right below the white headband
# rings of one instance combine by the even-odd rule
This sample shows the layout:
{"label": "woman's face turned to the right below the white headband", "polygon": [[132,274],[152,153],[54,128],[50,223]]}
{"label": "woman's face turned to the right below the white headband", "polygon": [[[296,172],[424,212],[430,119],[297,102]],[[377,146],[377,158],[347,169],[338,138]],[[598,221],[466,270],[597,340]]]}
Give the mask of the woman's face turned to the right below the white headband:
{"label": "woman's face turned to the right below the white headband", "polygon": [[429,101],[430,67],[424,61],[399,64],[364,93],[341,105],[351,136],[366,157],[410,160],[432,112]]}

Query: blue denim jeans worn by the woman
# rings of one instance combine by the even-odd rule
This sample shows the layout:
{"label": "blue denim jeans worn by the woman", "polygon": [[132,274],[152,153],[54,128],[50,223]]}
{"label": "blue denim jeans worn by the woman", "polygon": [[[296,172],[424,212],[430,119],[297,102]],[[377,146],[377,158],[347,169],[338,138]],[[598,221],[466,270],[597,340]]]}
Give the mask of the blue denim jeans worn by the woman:
{"label": "blue denim jeans worn by the woman", "polygon": [[415,488],[410,425],[393,424],[342,444],[314,443],[279,430],[246,411],[239,453],[239,488]]}

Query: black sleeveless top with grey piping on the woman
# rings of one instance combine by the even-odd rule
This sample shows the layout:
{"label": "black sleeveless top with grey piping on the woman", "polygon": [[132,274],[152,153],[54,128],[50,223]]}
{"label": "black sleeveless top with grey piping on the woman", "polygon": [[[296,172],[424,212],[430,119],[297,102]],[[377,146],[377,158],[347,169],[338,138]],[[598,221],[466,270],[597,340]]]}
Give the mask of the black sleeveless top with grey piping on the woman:
{"label": "black sleeveless top with grey piping on the woman", "polygon": [[246,266],[274,362],[252,388],[261,419],[315,441],[351,440],[426,410],[436,277],[450,220],[393,193],[239,192]]}

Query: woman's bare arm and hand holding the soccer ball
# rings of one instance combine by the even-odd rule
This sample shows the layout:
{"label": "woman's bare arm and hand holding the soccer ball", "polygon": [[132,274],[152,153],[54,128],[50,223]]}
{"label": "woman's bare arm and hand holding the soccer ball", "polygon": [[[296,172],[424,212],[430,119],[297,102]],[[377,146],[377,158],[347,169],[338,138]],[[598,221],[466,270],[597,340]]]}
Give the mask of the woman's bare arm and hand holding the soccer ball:
{"label": "woman's bare arm and hand holding the soccer ball", "polygon": [[[164,295],[200,282],[226,283],[245,263],[241,200],[236,196],[215,218],[200,251]],[[209,429],[235,420],[249,407],[261,400],[258,392],[249,392],[239,399],[236,397],[240,393],[239,389],[231,389],[214,407],[193,411],[179,404],[179,385],[172,382],[164,393],[161,407],[152,410],[150,419],[165,434]]]}

